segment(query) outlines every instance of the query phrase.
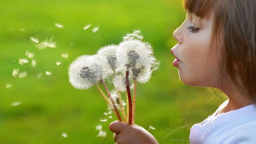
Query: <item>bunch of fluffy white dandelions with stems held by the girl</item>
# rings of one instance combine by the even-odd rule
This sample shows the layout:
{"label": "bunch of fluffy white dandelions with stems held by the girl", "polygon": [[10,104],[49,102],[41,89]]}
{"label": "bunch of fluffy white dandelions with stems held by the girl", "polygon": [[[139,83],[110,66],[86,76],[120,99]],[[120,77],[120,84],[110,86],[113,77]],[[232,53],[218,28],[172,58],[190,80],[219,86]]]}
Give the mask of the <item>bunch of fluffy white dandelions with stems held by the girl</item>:
{"label": "bunch of fluffy white dandelions with stems held by the girl", "polygon": [[[78,89],[88,89],[94,85],[118,119],[131,125],[134,125],[137,82],[149,81],[152,72],[159,65],[153,56],[152,46],[142,41],[143,36],[140,33],[141,31],[128,33],[119,45],[107,45],[99,49],[95,55],[80,56],[69,67],[69,80],[72,86]],[[116,96],[109,92],[104,82],[106,79],[111,79]],[[109,99],[98,83],[104,86]],[[133,99],[131,99],[130,91],[132,88],[134,89]],[[128,102],[126,113],[121,92],[126,92],[126,103]]]}

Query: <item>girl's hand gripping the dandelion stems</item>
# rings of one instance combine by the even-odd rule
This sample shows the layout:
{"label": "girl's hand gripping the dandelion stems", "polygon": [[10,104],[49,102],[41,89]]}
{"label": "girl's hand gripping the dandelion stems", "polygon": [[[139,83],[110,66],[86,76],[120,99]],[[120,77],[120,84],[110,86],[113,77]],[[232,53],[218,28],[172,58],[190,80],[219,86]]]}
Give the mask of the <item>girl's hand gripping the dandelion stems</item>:
{"label": "girl's hand gripping the dandelion stems", "polygon": [[115,133],[116,144],[158,144],[152,134],[138,125],[114,121],[109,125],[109,129]]}

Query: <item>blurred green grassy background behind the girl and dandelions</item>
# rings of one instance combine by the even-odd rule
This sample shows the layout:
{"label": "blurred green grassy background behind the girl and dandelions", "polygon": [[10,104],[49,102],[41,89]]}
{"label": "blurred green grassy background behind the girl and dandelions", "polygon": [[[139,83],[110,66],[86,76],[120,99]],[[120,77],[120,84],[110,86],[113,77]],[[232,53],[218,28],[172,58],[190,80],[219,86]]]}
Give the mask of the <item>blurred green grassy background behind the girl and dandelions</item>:
{"label": "blurred green grassy background behind the girl and dandelions", "polygon": [[[150,82],[138,84],[135,123],[145,129],[154,126],[149,131],[159,143],[189,143],[191,126],[211,115],[224,98],[211,98],[206,88],[187,86],[179,79],[170,49],[176,44],[173,31],[185,17],[181,0],[1,0],[0,143],[114,143],[108,127],[117,118],[113,115],[100,122],[107,112],[106,102],[95,87],[73,88],[67,69],[76,57],[118,44],[125,33],[138,28],[156,49],[161,65]],[[58,29],[56,22],[64,28]],[[104,37],[84,31],[86,24],[99,25]],[[53,36],[57,47],[39,50],[31,36],[40,42]],[[26,50],[35,53],[35,73],[30,64],[18,64]],[[64,59],[62,53],[69,57]],[[57,66],[56,61],[63,63]],[[27,71],[28,77],[12,77],[15,68]],[[12,87],[6,88],[6,84]],[[13,102],[21,104],[11,106]],[[97,137],[97,124],[107,131],[106,139]],[[61,136],[63,132],[66,138]]]}

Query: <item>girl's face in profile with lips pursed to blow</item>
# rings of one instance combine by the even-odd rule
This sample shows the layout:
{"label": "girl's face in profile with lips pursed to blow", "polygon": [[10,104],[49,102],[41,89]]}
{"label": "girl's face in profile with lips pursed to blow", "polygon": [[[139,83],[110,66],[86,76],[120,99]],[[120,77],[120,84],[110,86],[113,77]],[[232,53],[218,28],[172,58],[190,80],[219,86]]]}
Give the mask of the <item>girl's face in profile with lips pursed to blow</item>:
{"label": "girl's face in profile with lips pursed to blow", "polygon": [[173,33],[178,43],[171,51],[179,60],[179,77],[186,85],[215,88],[220,85],[220,48],[216,42],[211,45],[213,15],[211,11],[208,18],[200,19],[187,11],[185,21]]}

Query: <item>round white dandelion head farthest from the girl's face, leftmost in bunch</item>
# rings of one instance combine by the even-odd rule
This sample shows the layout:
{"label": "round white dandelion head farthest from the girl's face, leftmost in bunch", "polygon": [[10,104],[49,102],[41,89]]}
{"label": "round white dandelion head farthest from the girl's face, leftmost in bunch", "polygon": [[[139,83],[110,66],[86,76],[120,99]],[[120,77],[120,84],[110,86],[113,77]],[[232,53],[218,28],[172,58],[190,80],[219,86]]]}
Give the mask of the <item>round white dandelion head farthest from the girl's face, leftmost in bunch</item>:
{"label": "round white dandelion head farthest from the girl's face, leftmost in bunch", "polygon": [[69,81],[77,89],[88,89],[113,74],[111,68],[102,65],[98,55],[83,55],[74,60],[68,70]]}

